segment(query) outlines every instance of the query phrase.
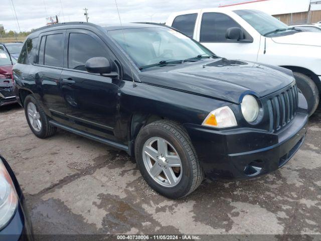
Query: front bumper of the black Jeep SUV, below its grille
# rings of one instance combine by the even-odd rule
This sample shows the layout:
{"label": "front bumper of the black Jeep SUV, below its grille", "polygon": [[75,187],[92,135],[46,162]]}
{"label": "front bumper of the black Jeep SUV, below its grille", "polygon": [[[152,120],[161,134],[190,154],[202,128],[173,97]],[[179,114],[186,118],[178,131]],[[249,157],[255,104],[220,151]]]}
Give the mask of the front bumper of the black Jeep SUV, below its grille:
{"label": "front bumper of the black Jeep SUV, below its grille", "polygon": [[211,179],[245,179],[272,172],[283,166],[302,145],[307,114],[297,112],[292,122],[273,134],[240,128],[217,131],[185,125],[201,166]]}

